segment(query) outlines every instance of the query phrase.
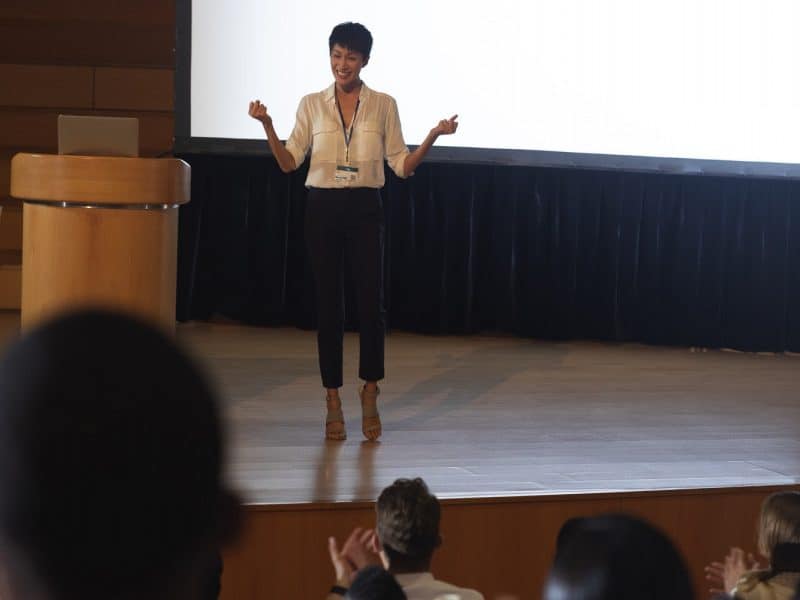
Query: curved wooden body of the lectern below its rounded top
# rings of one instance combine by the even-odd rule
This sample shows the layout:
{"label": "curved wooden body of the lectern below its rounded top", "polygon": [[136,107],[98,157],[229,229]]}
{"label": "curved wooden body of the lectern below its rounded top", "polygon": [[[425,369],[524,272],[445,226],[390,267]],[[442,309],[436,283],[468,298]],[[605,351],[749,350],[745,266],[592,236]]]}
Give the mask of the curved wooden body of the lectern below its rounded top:
{"label": "curved wooden body of the lectern below its rounded top", "polygon": [[175,324],[178,209],[23,209],[22,327],[86,306]]}

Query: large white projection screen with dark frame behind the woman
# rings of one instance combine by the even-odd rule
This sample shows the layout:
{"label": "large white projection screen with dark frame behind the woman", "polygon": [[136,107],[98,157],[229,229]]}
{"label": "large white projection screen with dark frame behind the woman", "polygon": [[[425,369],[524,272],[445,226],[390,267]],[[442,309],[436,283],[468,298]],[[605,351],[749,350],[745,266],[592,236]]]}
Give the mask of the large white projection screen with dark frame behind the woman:
{"label": "large white projection screen with dark frame behind the woman", "polygon": [[363,80],[434,160],[800,177],[798,0],[179,0],[176,150],[268,153],[363,23]]}

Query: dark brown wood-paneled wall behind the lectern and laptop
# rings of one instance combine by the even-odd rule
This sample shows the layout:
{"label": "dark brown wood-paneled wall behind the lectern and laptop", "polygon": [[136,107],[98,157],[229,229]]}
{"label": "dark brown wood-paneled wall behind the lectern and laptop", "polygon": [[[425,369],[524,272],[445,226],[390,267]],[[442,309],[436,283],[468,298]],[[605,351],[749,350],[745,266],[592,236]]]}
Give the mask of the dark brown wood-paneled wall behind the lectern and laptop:
{"label": "dark brown wood-paneled wall behind the lectern and laptop", "polygon": [[142,156],[172,148],[174,47],[174,0],[0,2],[0,264],[21,248],[9,162],[55,152],[59,114],[138,117]]}

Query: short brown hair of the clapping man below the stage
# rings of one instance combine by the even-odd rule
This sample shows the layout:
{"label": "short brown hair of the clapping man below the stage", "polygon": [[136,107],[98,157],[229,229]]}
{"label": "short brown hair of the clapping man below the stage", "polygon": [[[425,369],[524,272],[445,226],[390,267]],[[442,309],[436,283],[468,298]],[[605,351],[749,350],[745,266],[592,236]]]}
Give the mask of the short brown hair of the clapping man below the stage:
{"label": "short brown hair of the clapping man below the stage", "polygon": [[441,543],[439,500],[425,482],[398,479],[378,496],[378,539],[392,568],[425,566]]}

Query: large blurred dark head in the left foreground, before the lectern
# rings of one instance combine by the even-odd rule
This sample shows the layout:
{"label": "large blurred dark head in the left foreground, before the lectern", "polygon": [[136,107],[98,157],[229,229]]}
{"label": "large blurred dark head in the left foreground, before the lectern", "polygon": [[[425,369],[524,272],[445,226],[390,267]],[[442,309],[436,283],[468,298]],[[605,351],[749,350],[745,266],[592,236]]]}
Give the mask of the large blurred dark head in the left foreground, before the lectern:
{"label": "large blurred dark head in the left foreground, before the lectern", "polygon": [[0,597],[197,598],[239,502],[217,398],[164,334],[83,311],[0,361]]}

